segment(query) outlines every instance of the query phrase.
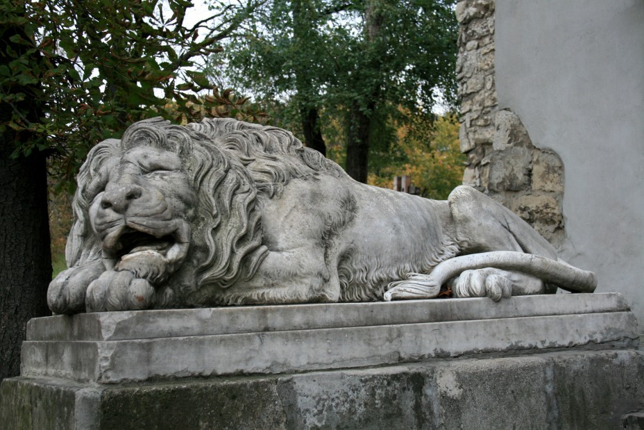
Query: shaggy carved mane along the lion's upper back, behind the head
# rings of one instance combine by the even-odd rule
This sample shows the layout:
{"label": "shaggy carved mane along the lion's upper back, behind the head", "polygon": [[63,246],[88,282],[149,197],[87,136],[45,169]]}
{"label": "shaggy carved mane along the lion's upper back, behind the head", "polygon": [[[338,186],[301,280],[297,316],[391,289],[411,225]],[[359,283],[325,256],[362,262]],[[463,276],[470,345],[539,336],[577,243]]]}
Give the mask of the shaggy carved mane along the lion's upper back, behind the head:
{"label": "shaggy carved mane along the lion's upper back, behind the head", "polygon": [[336,163],[318,151],[304,147],[293,133],[230,118],[203,119],[187,127],[204,133],[239,160],[257,187],[268,198],[282,194],[291,179],[314,179],[317,175],[349,177]]}

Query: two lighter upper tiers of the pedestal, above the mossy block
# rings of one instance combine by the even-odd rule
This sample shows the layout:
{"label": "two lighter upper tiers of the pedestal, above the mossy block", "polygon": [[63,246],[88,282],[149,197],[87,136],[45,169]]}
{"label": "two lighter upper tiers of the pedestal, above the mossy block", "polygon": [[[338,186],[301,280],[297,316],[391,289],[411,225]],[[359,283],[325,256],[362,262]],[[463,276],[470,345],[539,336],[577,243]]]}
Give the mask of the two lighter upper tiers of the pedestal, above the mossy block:
{"label": "two lighter upper tiers of the pedestal, above the mossy block", "polygon": [[[29,338],[39,340],[23,344],[22,375],[122,383],[636,345],[636,321],[619,295],[513,297],[500,303],[416,301],[407,303],[409,312],[394,304],[387,313],[388,306],[327,304],[294,311],[291,306],[266,306],[258,315],[253,313],[257,308],[219,309],[221,315],[212,309],[210,318],[198,309],[144,312],[143,320],[136,313],[50,317],[44,321],[50,324],[36,321],[30,326]],[[166,320],[165,315],[174,317]],[[250,315],[257,318],[246,320]],[[455,320],[459,315],[466,319]],[[87,324],[85,336],[71,329],[70,340],[57,340],[57,322],[85,325],[74,324],[74,318],[79,323],[95,319]],[[185,322],[181,330],[176,329],[177,319]],[[53,328],[53,340],[37,333],[37,326]]]}

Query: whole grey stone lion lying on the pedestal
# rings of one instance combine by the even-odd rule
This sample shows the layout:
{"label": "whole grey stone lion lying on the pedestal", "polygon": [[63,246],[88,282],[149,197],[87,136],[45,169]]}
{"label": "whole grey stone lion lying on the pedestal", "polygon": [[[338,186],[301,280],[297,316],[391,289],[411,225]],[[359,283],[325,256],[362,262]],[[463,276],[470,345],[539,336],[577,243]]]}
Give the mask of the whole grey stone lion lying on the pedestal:
{"label": "whole grey stone lion lying on the pedestal", "polygon": [[149,119],[78,174],[54,313],[592,292],[510,210],[358,183],[288,131]]}

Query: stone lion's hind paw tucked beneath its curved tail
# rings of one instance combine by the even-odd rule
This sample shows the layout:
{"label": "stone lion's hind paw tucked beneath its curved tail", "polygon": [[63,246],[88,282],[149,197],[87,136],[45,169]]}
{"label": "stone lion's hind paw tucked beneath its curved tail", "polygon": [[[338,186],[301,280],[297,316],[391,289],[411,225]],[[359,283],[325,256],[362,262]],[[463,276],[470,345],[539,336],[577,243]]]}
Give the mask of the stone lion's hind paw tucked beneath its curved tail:
{"label": "stone lion's hind paw tucked beneath its curved tail", "polygon": [[454,297],[489,297],[499,301],[512,295],[512,283],[499,270],[466,270],[452,281],[452,293]]}

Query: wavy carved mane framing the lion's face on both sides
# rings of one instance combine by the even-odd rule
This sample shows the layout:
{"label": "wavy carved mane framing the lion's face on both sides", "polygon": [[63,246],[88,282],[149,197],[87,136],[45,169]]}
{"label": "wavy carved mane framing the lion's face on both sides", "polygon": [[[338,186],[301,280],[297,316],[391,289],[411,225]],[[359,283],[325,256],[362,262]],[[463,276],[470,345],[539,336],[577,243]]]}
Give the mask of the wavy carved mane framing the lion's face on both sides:
{"label": "wavy carved mane framing the lion's face on both sides", "polygon": [[202,254],[198,256],[192,287],[226,288],[253,276],[266,256],[253,180],[244,166],[217,148],[212,138],[161,118],[137,122],[127,129],[122,140],[105,140],[88,154],[78,174],[74,224],[66,248],[68,267],[101,258],[101,244],[87,222],[88,209],[105,188],[110,169],[115,167],[116,161],[110,158],[138,146],[178,154],[197,190],[199,204],[193,245]]}

